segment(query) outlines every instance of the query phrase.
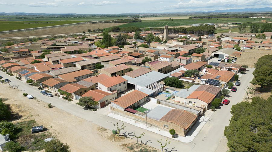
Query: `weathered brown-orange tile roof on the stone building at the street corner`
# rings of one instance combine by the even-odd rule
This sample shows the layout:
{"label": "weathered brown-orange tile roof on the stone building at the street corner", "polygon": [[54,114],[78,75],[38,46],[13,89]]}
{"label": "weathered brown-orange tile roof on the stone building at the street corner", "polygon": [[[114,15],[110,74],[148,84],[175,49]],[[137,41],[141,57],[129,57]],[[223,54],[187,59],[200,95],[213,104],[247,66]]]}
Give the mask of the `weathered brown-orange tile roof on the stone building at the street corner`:
{"label": "weathered brown-orange tile roof on the stone building at the street corner", "polygon": [[184,129],[188,129],[197,118],[197,115],[185,110],[172,109],[160,120],[174,123]]}

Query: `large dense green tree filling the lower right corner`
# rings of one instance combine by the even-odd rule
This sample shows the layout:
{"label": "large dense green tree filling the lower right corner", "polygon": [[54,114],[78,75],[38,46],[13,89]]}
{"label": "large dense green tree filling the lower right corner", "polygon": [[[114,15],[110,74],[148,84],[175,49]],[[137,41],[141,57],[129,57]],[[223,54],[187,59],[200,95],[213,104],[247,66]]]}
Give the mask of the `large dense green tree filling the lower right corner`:
{"label": "large dense green tree filling the lower right corner", "polygon": [[[225,127],[230,152],[270,152],[272,97],[253,97],[252,102],[240,102],[231,107],[230,123]],[[265,107],[265,108],[264,108]]]}

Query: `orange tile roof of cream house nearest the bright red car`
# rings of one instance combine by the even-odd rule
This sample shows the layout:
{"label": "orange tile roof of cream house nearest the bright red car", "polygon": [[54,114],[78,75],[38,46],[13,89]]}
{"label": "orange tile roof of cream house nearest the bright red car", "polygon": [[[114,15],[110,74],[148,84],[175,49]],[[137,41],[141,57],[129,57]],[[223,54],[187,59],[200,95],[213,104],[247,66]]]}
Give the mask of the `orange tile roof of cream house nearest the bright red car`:
{"label": "orange tile roof of cream house nearest the bright red car", "polygon": [[215,98],[215,95],[207,91],[194,91],[188,97],[188,99],[199,99],[209,104]]}

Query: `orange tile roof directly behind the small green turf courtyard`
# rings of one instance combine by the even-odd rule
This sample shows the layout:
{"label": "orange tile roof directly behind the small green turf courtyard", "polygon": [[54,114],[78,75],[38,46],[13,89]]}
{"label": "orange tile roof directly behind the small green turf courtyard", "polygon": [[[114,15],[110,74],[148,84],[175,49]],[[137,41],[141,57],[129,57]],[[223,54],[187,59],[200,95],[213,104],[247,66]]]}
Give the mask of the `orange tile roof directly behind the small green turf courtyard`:
{"label": "orange tile roof directly behind the small green turf courtyard", "polygon": [[118,106],[125,109],[147,96],[148,94],[145,94],[138,90],[134,90],[131,93],[115,99],[114,101],[112,101],[112,103],[117,104]]}

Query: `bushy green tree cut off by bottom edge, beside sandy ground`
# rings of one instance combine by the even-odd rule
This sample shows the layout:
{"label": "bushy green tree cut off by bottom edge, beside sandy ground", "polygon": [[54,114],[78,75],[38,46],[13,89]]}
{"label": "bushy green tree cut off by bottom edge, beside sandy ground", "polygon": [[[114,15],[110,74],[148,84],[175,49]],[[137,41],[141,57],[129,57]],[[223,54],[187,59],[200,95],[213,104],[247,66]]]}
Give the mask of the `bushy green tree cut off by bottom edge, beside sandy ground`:
{"label": "bushy green tree cut off by bottom edge, beside sandy ground", "polygon": [[45,152],[71,152],[69,145],[63,144],[58,139],[53,139],[45,144]]}

